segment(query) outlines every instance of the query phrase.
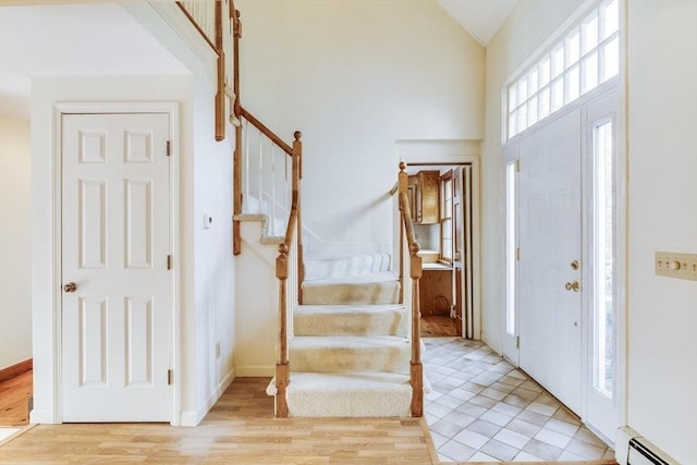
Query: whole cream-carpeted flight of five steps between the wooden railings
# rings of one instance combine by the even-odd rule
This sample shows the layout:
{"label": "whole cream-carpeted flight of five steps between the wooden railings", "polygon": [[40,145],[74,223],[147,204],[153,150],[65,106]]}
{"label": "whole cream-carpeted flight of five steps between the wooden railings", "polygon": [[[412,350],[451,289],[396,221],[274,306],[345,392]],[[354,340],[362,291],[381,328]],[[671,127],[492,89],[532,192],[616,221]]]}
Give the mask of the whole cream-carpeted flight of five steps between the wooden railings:
{"label": "whole cream-carpeted flight of five steps between the wooden railings", "polygon": [[[409,416],[409,316],[389,269],[387,254],[305,260],[289,416]],[[268,393],[276,394],[273,381]]]}

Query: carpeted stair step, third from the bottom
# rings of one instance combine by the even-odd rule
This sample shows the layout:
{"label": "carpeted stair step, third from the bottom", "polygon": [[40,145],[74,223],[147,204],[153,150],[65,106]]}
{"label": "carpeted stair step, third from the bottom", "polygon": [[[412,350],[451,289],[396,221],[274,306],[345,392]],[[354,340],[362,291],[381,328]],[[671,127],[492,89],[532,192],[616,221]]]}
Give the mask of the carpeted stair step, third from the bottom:
{"label": "carpeted stair step, third from the bottom", "polygon": [[407,325],[404,305],[301,305],[293,315],[295,335],[406,336]]}

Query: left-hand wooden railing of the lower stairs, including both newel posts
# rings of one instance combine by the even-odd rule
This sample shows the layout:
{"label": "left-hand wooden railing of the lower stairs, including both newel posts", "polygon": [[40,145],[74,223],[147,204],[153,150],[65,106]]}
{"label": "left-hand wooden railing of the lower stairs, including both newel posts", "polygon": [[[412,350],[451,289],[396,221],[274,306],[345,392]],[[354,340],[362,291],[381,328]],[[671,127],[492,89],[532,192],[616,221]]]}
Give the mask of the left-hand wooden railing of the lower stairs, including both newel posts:
{"label": "left-hand wooden railing of the lower stairs, including both newel posts", "polygon": [[[291,382],[289,360],[289,338],[292,333],[292,309],[301,302],[302,283],[302,221],[301,221],[301,167],[303,157],[302,134],[296,131],[292,148],[292,194],[291,212],[283,242],[279,245],[279,256],[276,258],[276,277],[279,279],[279,357],[276,364],[276,416],[288,417],[288,402],[285,390]],[[296,241],[293,235],[296,234]],[[296,261],[297,267],[291,266]],[[296,270],[296,273],[293,273]],[[291,280],[291,285],[288,281]],[[289,309],[291,311],[289,311]]]}

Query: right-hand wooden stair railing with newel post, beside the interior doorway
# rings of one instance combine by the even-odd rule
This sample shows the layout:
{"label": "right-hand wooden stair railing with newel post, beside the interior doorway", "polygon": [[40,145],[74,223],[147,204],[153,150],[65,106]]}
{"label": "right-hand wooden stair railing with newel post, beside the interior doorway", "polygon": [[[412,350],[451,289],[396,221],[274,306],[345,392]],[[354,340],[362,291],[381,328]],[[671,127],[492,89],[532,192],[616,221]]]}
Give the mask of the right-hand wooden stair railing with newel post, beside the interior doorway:
{"label": "right-hand wooden stair railing with newel post, beside the interior doorway", "polygon": [[[412,209],[408,195],[408,174],[406,174],[406,163],[400,162],[400,174],[396,189],[392,188],[390,194],[399,193],[400,209],[400,281],[404,286],[405,268],[408,269],[411,278],[411,292],[404,293],[407,308],[411,309],[412,317],[412,360],[409,379],[412,384],[412,416],[424,416],[424,367],[421,365],[421,339],[420,339],[420,304],[419,304],[419,279],[421,278],[421,257],[419,257],[419,245],[414,234],[414,223],[412,220]],[[408,267],[405,267],[408,264]]]}

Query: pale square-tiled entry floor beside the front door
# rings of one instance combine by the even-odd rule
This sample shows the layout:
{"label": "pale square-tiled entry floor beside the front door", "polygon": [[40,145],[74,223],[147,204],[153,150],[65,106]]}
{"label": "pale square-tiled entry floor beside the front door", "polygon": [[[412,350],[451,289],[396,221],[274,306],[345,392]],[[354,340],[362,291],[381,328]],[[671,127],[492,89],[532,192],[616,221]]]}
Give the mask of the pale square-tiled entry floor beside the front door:
{"label": "pale square-tiled entry floor beside the front door", "polygon": [[554,397],[481,341],[424,338],[425,416],[442,462],[614,458]]}

